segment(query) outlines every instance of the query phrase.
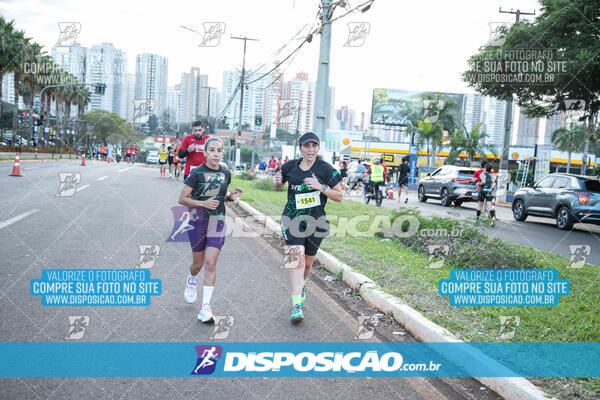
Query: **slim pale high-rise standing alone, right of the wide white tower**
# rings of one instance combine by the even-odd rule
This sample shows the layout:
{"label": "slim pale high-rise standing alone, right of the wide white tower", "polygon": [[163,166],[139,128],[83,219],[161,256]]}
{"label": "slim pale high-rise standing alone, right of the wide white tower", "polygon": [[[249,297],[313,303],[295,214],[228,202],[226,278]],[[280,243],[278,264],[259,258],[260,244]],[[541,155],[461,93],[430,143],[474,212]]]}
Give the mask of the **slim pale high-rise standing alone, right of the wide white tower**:
{"label": "slim pale high-rise standing alone, right of the wide white tower", "polygon": [[160,118],[167,108],[169,60],[157,54],[138,54],[135,65],[136,100],[153,100],[154,115]]}

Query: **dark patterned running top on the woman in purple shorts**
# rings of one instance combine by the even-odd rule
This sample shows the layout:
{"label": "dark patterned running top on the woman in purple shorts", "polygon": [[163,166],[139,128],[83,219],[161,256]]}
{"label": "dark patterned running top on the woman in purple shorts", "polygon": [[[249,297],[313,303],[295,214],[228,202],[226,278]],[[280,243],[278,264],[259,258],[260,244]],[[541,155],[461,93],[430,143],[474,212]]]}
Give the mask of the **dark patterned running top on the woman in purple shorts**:
{"label": "dark patterned running top on the woman in purple shorts", "polygon": [[[192,188],[193,200],[208,200],[214,197],[219,201],[219,205],[214,210],[204,208],[204,217],[218,215],[225,218],[225,196],[227,187],[231,183],[231,172],[227,168],[219,165],[219,169],[210,169],[206,164],[194,168],[190,172],[184,183]],[[203,207],[201,207],[203,208]]]}

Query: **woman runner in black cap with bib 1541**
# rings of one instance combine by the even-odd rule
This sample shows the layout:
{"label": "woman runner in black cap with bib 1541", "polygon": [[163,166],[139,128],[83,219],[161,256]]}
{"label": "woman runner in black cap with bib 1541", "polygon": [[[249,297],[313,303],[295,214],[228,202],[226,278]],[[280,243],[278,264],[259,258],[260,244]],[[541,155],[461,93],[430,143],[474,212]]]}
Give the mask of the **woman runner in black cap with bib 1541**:
{"label": "woman runner in black cap with bib 1541", "polygon": [[288,182],[288,200],[281,216],[281,230],[286,243],[285,267],[292,292],[292,322],[304,319],[306,280],[321,241],[329,234],[325,215],[327,199],[342,201],[342,178],[333,166],[318,156],[319,137],[306,132],[299,139],[302,157],[283,164],[273,176],[281,189]]}

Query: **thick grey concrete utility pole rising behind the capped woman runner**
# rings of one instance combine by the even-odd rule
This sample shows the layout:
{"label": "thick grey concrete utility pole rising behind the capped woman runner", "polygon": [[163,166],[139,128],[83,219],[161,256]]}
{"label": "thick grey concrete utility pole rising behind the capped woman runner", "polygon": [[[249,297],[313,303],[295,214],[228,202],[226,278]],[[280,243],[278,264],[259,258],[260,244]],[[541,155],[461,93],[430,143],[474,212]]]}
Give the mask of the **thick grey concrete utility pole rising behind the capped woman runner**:
{"label": "thick grey concrete utility pole rising behind the capped woman runner", "polygon": [[329,59],[331,53],[331,14],[332,0],[321,0],[321,47],[319,49],[319,72],[315,95],[315,116],[313,130],[321,139],[325,139],[328,91],[329,91]]}

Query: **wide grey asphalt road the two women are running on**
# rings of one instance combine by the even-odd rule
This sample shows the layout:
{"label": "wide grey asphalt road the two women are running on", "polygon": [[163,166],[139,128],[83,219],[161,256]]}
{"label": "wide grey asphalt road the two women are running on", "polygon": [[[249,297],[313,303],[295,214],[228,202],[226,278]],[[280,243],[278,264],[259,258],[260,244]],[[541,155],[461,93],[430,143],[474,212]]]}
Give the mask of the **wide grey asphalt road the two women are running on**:
{"label": "wide grey asphalt road the two women are running on", "polygon": [[[70,316],[89,317],[84,342],[204,342],[213,326],[196,320],[198,305],[183,300],[191,253],[166,242],[181,182],[159,179],[154,168],[77,161],[22,163],[23,177],[0,164],[0,340],[71,342]],[[56,196],[59,173],[78,172],[73,196]],[[234,210],[229,210],[233,213]],[[151,269],[162,294],[145,307],[47,307],[30,294],[30,281],[50,268],[134,268],[140,245],[160,246]],[[316,269],[308,283],[306,320],[289,323],[290,299],[281,249],[263,238],[228,237],[218,264],[212,306],[234,317],[226,341],[358,341],[358,317],[376,311]],[[389,322],[372,341],[413,341]],[[393,334],[396,332],[396,334]],[[73,354],[77,357],[77,354]],[[190,365],[190,369],[193,368]],[[326,388],[326,395],[324,393]],[[473,379],[218,379],[11,378],[0,379],[6,399],[189,399],[328,397],[389,399],[498,399]]]}

